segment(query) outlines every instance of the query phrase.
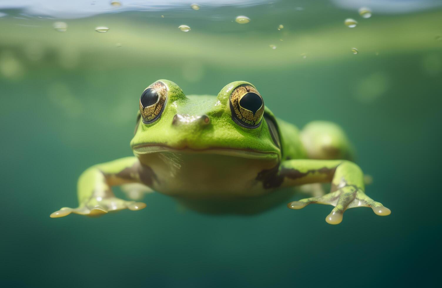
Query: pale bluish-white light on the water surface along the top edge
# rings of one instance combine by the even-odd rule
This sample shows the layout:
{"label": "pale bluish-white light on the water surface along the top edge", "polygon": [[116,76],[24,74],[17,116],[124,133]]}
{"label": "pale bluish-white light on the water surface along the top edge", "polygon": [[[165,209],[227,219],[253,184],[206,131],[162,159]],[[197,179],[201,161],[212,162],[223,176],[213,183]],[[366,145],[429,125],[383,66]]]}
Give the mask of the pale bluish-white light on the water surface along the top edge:
{"label": "pale bluish-white light on the water surface along the top edge", "polygon": [[[198,4],[189,4],[187,0],[77,0],[77,1],[59,1],[59,0],[3,0],[0,2],[0,10],[18,9],[25,15],[33,15],[49,18],[81,18],[92,15],[119,13],[122,11],[186,11],[193,10],[213,10],[218,7],[232,6],[237,8],[251,7],[254,5],[272,5],[281,2],[280,0],[202,0]],[[297,1],[298,6],[306,4],[308,1]],[[419,11],[435,8],[440,5],[437,0],[331,0],[336,8],[347,10],[362,9],[364,18],[369,18],[370,9],[375,13],[404,13],[410,11]],[[303,7],[296,7],[298,11],[304,10]],[[368,9],[368,10],[367,10]],[[4,16],[0,13],[0,17]]]}

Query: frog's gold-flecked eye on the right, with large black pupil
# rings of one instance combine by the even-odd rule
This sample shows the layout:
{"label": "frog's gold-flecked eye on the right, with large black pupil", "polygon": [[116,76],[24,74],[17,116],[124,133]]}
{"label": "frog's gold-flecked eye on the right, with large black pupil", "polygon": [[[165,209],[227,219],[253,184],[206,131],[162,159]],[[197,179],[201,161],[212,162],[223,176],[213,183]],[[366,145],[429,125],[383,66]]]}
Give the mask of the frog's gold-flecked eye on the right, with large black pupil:
{"label": "frog's gold-flecked eye on the right, with large black pupil", "polygon": [[257,128],[264,114],[264,101],[251,85],[240,85],[230,95],[232,119],[246,128]]}

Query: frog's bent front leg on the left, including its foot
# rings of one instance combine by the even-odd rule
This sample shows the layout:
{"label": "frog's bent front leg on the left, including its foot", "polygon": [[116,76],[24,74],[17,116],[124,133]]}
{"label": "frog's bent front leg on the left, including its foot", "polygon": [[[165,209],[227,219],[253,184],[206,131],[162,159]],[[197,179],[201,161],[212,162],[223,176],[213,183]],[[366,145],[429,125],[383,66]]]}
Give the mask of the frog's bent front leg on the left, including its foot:
{"label": "frog's bent front leg on the left, including its foot", "polygon": [[145,203],[117,198],[111,187],[127,183],[141,183],[151,186],[154,179],[155,174],[152,170],[142,165],[136,157],[126,157],[92,166],[84,171],[78,179],[79,206],[77,208],[61,208],[50,216],[52,218],[62,217],[70,213],[96,216],[126,208],[140,210],[146,207]]}

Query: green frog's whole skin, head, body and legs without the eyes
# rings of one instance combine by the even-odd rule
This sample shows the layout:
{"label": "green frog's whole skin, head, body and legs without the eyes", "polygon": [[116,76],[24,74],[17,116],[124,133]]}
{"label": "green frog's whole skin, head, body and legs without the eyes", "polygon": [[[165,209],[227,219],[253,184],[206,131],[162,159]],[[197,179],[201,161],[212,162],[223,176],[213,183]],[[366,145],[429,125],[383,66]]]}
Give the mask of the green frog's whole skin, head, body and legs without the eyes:
{"label": "green frog's whole skin, head, body and legs without the eyes", "polygon": [[[248,213],[288,199],[291,191],[283,187],[318,182],[330,182],[331,192],[291,202],[289,208],[333,205],[326,218],[330,224],[339,224],[347,208],[358,206],[389,215],[388,208],[364,193],[364,175],[348,160],[350,144],[337,125],[315,121],[299,131],[265,107],[260,125],[245,128],[232,120],[230,95],[250,83],[229,83],[215,97],[186,96],[175,83],[159,82],[167,87],[167,101],[160,117],[150,124],[140,121],[138,113],[130,142],[135,156],[84,171],[78,181],[79,207],[61,208],[51,217],[146,206],[115,197],[111,186],[117,185],[132,196],[146,190],[164,193],[199,211]],[[270,122],[277,130],[275,140]]]}

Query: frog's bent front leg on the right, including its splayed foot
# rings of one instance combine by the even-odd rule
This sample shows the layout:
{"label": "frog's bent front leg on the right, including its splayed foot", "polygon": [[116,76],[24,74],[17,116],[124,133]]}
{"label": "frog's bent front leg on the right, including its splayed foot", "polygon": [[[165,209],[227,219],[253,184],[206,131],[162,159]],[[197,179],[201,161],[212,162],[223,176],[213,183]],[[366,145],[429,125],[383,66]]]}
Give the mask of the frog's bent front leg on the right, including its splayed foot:
{"label": "frog's bent front leg on the right, including its splayed foot", "polygon": [[301,209],[311,203],[333,205],[335,208],[325,219],[329,224],[341,223],[343,212],[354,207],[371,207],[380,216],[390,214],[389,208],[365,194],[364,174],[358,165],[347,160],[288,160],[282,163],[278,177],[282,186],[331,182],[330,193],[287,205],[292,209]]}

